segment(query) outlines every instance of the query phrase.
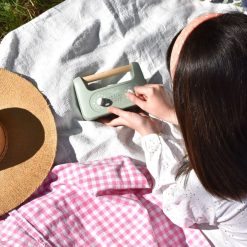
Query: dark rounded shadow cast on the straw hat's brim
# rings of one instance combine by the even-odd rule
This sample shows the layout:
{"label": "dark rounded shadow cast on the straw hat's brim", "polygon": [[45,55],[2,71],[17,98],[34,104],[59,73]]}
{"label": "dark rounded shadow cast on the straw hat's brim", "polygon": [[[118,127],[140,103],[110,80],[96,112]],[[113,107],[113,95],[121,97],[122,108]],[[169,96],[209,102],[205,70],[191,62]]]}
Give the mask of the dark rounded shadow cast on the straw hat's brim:
{"label": "dark rounded shadow cast on the straw hat's brim", "polygon": [[33,157],[45,140],[44,128],[38,118],[22,108],[0,111],[0,122],[7,132],[7,152],[0,161],[0,171]]}

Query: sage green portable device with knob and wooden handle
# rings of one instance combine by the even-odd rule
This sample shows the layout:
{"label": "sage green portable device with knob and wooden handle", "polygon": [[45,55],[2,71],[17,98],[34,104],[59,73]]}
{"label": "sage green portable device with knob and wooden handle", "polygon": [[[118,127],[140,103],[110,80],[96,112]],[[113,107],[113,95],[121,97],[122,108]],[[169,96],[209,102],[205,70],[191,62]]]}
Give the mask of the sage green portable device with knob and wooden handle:
{"label": "sage green portable device with knob and wooden handle", "polygon": [[[94,81],[127,72],[131,74],[130,80],[113,83],[93,90],[89,86]],[[110,113],[107,112],[107,107],[111,105],[121,109],[131,109],[134,107],[134,104],[127,99],[125,93],[130,90],[133,91],[135,86],[145,85],[146,83],[141,68],[136,62],[94,75],[77,77],[73,80],[79,108],[85,120],[95,120],[109,115]]]}

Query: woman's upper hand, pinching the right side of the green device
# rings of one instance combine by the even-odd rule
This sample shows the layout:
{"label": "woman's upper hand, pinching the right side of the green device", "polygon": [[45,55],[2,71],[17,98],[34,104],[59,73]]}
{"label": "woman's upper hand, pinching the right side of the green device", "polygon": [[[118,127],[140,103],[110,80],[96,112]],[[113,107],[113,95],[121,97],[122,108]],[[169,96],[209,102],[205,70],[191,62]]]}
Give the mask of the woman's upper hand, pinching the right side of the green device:
{"label": "woman's upper hand, pinching the right side of the green device", "polygon": [[134,93],[127,93],[127,98],[142,110],[164,121],[178,124],[171,97],[159,84],[136,86]]}

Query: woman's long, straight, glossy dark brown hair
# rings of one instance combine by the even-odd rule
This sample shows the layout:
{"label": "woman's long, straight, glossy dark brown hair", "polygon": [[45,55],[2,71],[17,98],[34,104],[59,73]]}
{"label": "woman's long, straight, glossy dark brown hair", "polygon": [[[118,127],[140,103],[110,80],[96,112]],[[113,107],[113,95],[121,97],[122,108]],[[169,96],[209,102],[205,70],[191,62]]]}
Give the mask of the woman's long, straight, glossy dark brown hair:
{"label": "woman's long, straight, glossy dark brown hair", "polygon": [[247,196],[246,15],[223,14],[193,30],[179,55],[173,96],[189,160],[177,176],[193,169],[211,194]]}

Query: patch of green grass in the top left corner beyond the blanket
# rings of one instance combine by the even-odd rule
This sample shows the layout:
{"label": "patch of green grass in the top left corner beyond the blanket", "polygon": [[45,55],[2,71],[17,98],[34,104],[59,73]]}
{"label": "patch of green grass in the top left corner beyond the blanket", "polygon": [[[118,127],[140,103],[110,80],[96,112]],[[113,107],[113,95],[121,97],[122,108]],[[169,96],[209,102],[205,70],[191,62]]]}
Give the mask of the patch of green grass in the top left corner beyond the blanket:
{"label": "patch of green grass in the top left corner beyond the blanket", "polygon": [[62,0],[0,0],[0,40]]}

